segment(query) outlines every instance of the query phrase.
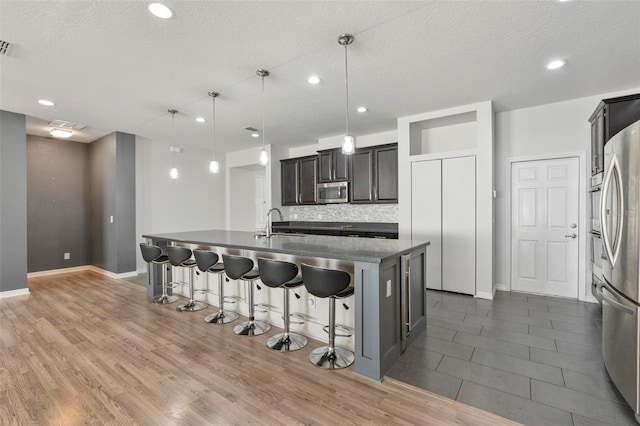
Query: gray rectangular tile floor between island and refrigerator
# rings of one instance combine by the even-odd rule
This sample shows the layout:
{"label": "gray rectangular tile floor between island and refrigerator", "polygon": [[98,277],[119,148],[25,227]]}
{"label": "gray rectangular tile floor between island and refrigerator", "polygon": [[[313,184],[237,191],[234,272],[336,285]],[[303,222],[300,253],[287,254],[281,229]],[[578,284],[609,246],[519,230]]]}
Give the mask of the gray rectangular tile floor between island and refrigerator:
{"label": "gray rectangular tile floor between island and refrigerator", "polygon": [[601,355],[599,307],[429,291],[427,330],[389,376],[527,425],[634,425]]}

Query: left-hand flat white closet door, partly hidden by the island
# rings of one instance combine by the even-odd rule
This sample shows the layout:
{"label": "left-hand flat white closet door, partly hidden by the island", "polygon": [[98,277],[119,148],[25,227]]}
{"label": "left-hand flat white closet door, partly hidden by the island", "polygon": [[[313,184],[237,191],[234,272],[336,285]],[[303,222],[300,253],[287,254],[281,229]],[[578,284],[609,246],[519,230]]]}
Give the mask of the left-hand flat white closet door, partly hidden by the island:
{"label": "left-hand flat white closet door, partly hidden by the island", "polygon": [[427,288],[442,290],[442,160],[411,164],[411,239],[431,243]]}

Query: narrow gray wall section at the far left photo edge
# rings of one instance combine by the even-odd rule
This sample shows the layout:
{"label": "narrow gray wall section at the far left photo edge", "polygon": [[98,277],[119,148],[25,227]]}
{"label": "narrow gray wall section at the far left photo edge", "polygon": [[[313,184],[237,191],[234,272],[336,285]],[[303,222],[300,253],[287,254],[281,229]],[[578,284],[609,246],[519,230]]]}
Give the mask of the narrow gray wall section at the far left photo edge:
{"label": "narrow gray wall section at the far left photo edge", "polygon": [[0,291],[27,288],[25,116],[0,110]]}

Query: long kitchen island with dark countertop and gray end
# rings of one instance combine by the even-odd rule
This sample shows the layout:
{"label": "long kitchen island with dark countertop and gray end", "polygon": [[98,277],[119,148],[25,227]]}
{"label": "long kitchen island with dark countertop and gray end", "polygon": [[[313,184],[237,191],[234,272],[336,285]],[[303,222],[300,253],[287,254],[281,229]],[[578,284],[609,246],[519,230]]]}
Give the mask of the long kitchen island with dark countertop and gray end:
{"label": "long kitchen island with dark countertop and gray end", "polygon": [[[354,371],[380,381],[412,336],[426,327],[425,241],[203,230],[143,235],[148,242],[215,248],[253,258],[342,269],[355,287]],[[160,269],[150,267],[147,294],[161,294]]]}

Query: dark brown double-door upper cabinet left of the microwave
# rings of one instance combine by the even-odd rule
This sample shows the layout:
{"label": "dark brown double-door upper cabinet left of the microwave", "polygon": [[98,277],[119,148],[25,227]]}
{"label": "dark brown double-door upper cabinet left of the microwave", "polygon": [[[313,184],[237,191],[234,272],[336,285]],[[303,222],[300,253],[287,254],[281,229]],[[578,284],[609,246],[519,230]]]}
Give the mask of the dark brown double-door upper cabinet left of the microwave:
{"label": "dark brown double-door upper cabinet left of the microwave", "polygon": [[316,204],[318,179],[318,157],[290,158],[280,160],[282,205]]}

